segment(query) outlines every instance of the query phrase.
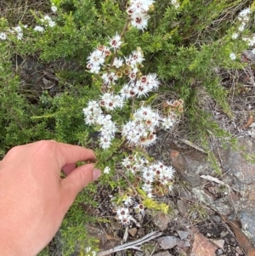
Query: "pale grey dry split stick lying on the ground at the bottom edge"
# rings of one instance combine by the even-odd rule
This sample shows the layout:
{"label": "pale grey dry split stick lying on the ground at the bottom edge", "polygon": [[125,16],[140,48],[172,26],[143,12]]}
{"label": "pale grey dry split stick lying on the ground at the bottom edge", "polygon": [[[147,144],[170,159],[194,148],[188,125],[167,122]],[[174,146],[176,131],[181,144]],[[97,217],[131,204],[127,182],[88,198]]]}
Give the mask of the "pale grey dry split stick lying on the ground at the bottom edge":
{"label": "pale grey dry split stick lying on the ground at the bottom edge", "polygon": [[115,253],[115,252],[131,249],[131,248],[139,250],[139,247],[138,247],[139,245],[143,244],[144,242],[149,242],[150,240],[153,240],[156,237],[161,236],[161,235],[162,235],[162,232],[153,231],[153,232],[150,232],[149,234],[147,234],[146,236],[140,238],[139,240],[136,240],[133,242],[127,242],[125,244],[118,245],[118,246],[113,247],[112,249],[106,250],[104,252],[99,252],[98,256],[105,256],[110,253]]}

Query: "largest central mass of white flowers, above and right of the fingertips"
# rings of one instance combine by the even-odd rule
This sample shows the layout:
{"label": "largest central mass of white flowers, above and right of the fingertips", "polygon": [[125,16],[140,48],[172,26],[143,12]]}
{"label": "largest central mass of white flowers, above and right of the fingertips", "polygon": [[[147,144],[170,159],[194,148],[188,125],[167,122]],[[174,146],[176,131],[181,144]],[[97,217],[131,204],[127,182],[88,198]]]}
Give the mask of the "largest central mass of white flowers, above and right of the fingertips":
{"label": "largest central mass of white flowers, above and right of the fingertips", "polygon": [[[92,73],[99,73],[102,66],[107,66],[105,60],[112,55],[111,48],[116,51],[121,47],[121,37],[116,33],[116,36],[110,39],[109,44],[110,47],[99,46],[88,56],[87,67]],[[111,62],[110,68],[100,75],[102,91],[105,93],[100,96],[98,101],[90,101],[88,107],[83,109],[87,124],[101,126],[100,145],[103,149],[108,149],[111,146],[111,140],[116,133],[116,124],[111,120],[109,112],[116,111],[117,108],[122,109],[125,100],[134,99],[135,96],[147,97],[160,84],[156,74],[143,75],[139,71],[139,66],[144,61],[144,54],[140,48],[134,50],[124,59],[117,58],[116,54],[112,59],[108,60]],[[116,83],[119,77],[123,78],[123,76],[127,77],[127,83],[122,85],[118,94],[114,94]],[[179,108],[183,107],[182,104],[183,102],[178,103]],[[169,103],[169,105],[171,104]],[[171,115],[168,113],[167,117],[162,118],[157,111],[152,111],[150,106],[142,106],[133,113],[133,120],[124,125],[118,123],[118,126],[122,136],[127,139],[129,144],[149,146],[156,141],[156,127],[162,123],[163,128],[171,128],[176,119],[177,116],[173,113]]]}

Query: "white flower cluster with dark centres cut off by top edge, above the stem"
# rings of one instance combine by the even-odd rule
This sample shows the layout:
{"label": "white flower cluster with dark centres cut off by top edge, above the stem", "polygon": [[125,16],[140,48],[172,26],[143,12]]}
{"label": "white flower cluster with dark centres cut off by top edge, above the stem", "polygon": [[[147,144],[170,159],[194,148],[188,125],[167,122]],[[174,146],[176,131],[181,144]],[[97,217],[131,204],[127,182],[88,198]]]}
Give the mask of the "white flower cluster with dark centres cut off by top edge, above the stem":
{"label": "white flower cluster with dark centres cut off by top edge, above the stem", "polygon": [[148,14],[153,0],[131,0],[130,6],[127,8],[127,14],[131,19],[131,25],[139,30],[144,31],[148,25],[150,15]]}

